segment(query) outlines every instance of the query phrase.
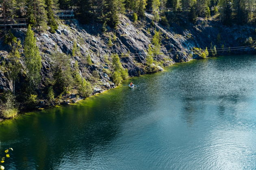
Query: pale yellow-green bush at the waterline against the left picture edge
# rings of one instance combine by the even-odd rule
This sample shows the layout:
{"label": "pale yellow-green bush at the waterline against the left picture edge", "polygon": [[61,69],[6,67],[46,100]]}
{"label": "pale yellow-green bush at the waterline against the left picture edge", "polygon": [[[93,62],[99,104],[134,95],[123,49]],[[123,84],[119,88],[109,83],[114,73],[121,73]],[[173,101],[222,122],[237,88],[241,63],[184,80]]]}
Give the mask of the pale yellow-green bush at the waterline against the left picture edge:
{"label": "pale yellow-green bush at the waterline against the left picture edge", "polygon": [[15,96],[11,93],[4,94],[0,100],[0,116],[4,119],[11,119],[18,114]]}

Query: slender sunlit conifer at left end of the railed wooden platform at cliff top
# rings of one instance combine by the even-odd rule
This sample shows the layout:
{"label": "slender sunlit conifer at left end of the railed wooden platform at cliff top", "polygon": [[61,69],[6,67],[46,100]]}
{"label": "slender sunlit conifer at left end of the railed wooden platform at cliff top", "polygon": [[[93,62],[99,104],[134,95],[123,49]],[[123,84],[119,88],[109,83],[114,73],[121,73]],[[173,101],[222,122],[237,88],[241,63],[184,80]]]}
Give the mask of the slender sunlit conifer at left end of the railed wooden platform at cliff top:
{"label": "slender sunlit conifer at left end of the railed wooden platform at cliff top", "polygon": [[52,0],[46,0],[46,11],[48,17],[48,26],[50,26],[50,32],[55,33],[55,30],[58,29],[58,24],[54,18],[54,13],[52,11],[53,2]]}

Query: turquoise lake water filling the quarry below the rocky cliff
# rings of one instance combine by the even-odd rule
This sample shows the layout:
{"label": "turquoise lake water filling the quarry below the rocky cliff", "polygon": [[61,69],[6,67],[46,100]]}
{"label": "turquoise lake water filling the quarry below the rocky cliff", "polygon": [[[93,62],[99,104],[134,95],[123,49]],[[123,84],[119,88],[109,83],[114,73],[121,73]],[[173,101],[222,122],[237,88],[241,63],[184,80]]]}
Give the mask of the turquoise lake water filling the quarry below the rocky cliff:
{"label": "turquoise lake water filling the quarry below the rocky cliff", "polygon": [[1,153],[9,147],[8,170],[255,169],[256,55],[174,64],[4,121]]}

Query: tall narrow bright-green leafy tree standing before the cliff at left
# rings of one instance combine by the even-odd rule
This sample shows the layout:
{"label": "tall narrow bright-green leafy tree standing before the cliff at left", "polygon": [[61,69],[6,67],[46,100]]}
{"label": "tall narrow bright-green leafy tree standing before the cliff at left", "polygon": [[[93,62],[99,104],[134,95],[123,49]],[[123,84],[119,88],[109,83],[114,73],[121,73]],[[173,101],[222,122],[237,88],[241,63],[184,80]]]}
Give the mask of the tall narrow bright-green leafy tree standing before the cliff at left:
{"label": "tall narrow bright-green leafy tree standing before the cliff at left", "polygon": [[37,40],[34,32],[31,30],[31,26],[29,25],[24,41],[24,56],[27,78],[31,89],[37,87],[41,80],[41,56],[36,42]]}

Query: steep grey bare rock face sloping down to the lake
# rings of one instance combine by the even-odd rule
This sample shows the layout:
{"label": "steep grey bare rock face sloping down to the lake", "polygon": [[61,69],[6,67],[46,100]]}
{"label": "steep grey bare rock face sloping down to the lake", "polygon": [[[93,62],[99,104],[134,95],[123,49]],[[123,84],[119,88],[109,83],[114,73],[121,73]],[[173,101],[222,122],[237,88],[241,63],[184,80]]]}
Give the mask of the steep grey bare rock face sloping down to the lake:
{"label": "steep grey bare rock face sloping down to the lake", "polygon": [[[244,46],[246,38],[252,36],[255,39],[255,27],[253,26],[234,26],[232,28],[220,26],[219,21],[206,21],[198,19],[197,23],[188,24],[186,28],[176,24],[169,28],[155,23],[150,24],[152,19],[151,14],[146,14],[147,22],[139,21],[132,23],[129,16],[123,16],[117,27],[117,30],[108,28],[106,33],[101,32],[102,25],[95,23],[94,25],[81,25],[77,20],[63,21],[56,33],[50,32],[37,33],[37,45],[41,51],[43,68],[41,75],[43,80],[50,77],[50,68],[54,48],[66,54],[72,54],[74,42],[77,42],[80,48],[80,56],[71,57],[71,64],[74,66],[75,61],[78,61],[80,67],[83,67],[85,72],[84,77],[91,80],[95,72],[100,77],[100,85],[94,88],[94,92],[98,93],[104,89],[115,87],[111,82],[111,65],[106,63],[106,57],[110,54],[119,54],[121,63],[124,68],[128,69],[130,76],[145,74],[143,64],[147,50],[152,42],[154,30],[160,30],[161,52],[163,54],[154,56],[154,60],[163,61],[164,66],[168,66],[174,62],[185,62],[197,55],[191,53],[193,47],[205,49],[208,47],[217,48],[224,47],[239,47]],[[24,43],[26,29],[14,29],[13,34]],[[112,41],[112,44],[110,43]],[[0,57],[5,58],[9,47],[4,45],[3,38],[0,41]],[[232,51],[233,53],[241,53],[241,50]],[[254,53],[255,49],[247,49],[247,52]],[[219,52],[219,55],[226,54],[227,51]],[[127,55],[124,55],[127,54]],[[85,56],[90,55],[93,64],[86,66],[84,64]],[[24,56],[22,56],[22,60]],[[108,60],[111,60],[108,58]],[[0,60],[1,61],[1,60]],[[159,71],[163,68],[159,67]],[[109,70],[108,72],[105,72]],[[12,82],[9,81],[4,72],[0,70],[0,91],[12,89]]]}

